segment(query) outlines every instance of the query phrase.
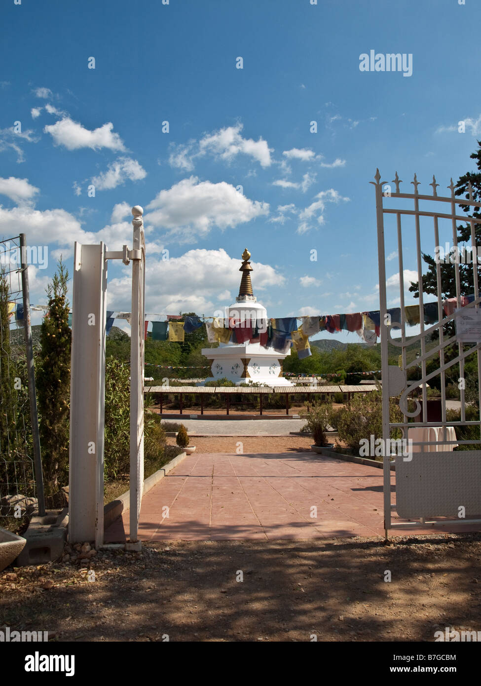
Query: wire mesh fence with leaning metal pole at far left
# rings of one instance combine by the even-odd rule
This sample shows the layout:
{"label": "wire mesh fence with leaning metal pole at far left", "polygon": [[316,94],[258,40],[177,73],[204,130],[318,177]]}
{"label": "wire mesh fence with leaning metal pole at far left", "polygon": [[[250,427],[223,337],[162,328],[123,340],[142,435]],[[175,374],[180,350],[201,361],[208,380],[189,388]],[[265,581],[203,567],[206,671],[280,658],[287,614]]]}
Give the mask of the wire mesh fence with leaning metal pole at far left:
{"label": "wire mesh fence with leaning metal pole at far left", "polygon": [[31,514],[38,495],[43,501],[24,245],[24,235],[0,241],[0,515],[3,517]]}

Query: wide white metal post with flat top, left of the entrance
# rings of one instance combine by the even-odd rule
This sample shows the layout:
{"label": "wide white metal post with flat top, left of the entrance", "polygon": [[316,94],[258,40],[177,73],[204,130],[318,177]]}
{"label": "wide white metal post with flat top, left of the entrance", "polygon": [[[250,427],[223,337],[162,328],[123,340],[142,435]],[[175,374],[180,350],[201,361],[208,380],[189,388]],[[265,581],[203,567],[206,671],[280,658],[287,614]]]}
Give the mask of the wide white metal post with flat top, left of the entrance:
{"label": "wide white metal post with flat top, left of the entrance", "polygon": [[105,254],[103,243],[83,246],[75,241],[69,541],[95,541],[96,547],[104,543]]}

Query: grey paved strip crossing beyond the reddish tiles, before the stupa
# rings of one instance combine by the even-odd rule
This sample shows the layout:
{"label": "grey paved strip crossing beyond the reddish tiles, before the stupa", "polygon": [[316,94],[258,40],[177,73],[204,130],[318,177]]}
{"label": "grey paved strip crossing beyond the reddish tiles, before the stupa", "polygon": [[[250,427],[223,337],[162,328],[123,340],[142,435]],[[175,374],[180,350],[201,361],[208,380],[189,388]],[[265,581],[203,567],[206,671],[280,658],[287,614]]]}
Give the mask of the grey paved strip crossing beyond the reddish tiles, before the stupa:
{"label": "grey paved strip crossing beyond the reddish tiles, before the stupa", "polygon": [[[165,420],[169,421],[169,420]],[[174,419],[189,436],[289,436],[301,431],[305,419]]]}

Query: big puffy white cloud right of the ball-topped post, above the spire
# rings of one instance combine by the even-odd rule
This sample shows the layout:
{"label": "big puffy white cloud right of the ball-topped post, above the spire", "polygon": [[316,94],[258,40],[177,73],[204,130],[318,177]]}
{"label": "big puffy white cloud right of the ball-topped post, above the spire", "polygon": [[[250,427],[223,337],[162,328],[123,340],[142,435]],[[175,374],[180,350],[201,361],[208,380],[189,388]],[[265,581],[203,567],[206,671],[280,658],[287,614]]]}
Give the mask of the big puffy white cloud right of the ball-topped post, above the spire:
{"label": "big puffy white cloud right of the ball-topped post, above the spire", "polygon": [[233,228],[268,215],[269,204],[249,200],[225,181],[199,182],[191,176],[158,193],[147,209],[145,222],[177,239],[192,241],[197,235],[207,235],[213,226]]}

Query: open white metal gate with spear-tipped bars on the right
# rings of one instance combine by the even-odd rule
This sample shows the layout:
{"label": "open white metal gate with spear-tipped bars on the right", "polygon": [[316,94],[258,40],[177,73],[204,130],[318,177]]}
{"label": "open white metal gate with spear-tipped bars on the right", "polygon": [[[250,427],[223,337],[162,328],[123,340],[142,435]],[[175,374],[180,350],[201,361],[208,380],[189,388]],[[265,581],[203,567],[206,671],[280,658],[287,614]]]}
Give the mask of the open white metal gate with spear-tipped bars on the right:
{"label": "open white metal gate with spear-tipped bars on the right", "polygon": [[[481,202],[473,200],[471,185],[468,186],[469,198],[456,198],[455,187],[451,179],[447,187],[450,194],[447,197],[438,196],[436,179],[433,176],[432,193],[421,195],[418,191],[419,181],[414,174],[411,182],[413,193],[402,193],[397,173],[390,185],[381,180],[379,169],[375,174],[376,213],[377,213],[377,248],[379,259],[379,302],[381,318],[381,349],[382,349],[382,414],[383,414],[383,443],[391,436],[392,429],[399,428],[403,438],[412,438],[412,452],[406,457],[395,457],[395,493],[396,503],[391,501],[391,471],[390,451],[384,455],[384,528],[386,537],[391,528],[425,528],[429,525],[458,525],[481,522],[481,450],[452,451],[456,445],[480,445],[481,421],[477,409],[477,416],[467,421],[465,404],[465,361],[469,356],[477,357],[478,400],[481,401],[481,322],[478,316],[481,298],[478,288],[478,268],[476,246],[476,224],[480,219],[456,213],[456,206],[460,204],[470,206],[475,210],[481,207]],[[395,201],[395,202],[393,202]],[[401,217],[403,222],[401,224]],[[457,222],[471,226],[471,246],[473,248],[472,283],[473,293],[461,292],[460,259],[449,263],[456,285],[456,299],[443,300],[441,283],[441,257],[439,246],[442,237],[449,235],[449,257],[459,255]],[[397,246],[399,264],[399,299],[391,303],[399,306],[400,321],[395,322],[388,314],[388,291],[386,285],[386,243]],[[405,277],[403,255],[410,255],[415,245],[415,261],[417,281],[419,282],[419,333],[410,337],[406,331],[406,311],[404,305]],[[446,246],[448,247],[448,246]],[[394,251],[393,251],[394,252]],[[423,259],[422,254],[436,255],[436,288],[435,294],[427,296],[423,293]],[[392,257],[392,255],[389,255]],[[392,262],[391,262],[392,263]],[[413,270],[414,271],[414,270]],[[411,281],[411,279],[410,279]],[[390,282],[390,285],[392,283]],[[468,297],[469,296],[469,297]],[[430,301],[432,320],[437,322],[430,325],[429,316],[425,314],[425,301]],[[434,302],[435,301],[435,302]],[[414,313],[415,314],[415,313]],[[462,318],[472,315],[475,318],[471,326],[471,333],[460,340]],[[425,323],[425,318],[427,323]],[[445,333],[445,325],[454,322],[456,333]],[[400,338],[392,338],[392,329],[401,329]],[[438,332],[438,344],[427,346],[430,335]],[[466,338],[473,344],[466,344]],[[399,348],[399,365],[390,366],[388,362],[388,344]],[[410,349],[413,345],[420,346],[421,352],[417,359],[408,361]],[[454,350],[447,350],[454,344]],[[457,349],[456,349],[457,348]],[[427,372],[427,364],[434,364],[434,370]],[[408,381],[408,371],[417,367],[421,379]],[[449,421],[446,405],[446,372],[450,368],[459,370],[460,386],[460,420]],[[439,377],[441,383],[441,417],[436,421],[429,420],[427,383]],[[413,392],[421,390],[421,401],[412,399]],[[399,407],[403,413],[402,422],[393,422],[390,417],[389,399],[399,396]],[[412,407],[414,405],[414,407]],[[481,403],[480,403],[481,405]],[[476,438],[460,440],[454,432],[460,427],[478,427]],[[396,511],[399,518],[408,520],[404,523],[392,521],[392,512]]]}

